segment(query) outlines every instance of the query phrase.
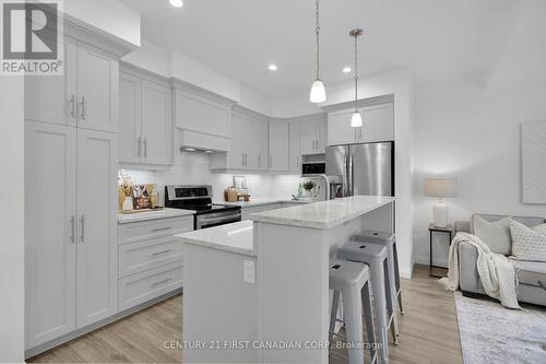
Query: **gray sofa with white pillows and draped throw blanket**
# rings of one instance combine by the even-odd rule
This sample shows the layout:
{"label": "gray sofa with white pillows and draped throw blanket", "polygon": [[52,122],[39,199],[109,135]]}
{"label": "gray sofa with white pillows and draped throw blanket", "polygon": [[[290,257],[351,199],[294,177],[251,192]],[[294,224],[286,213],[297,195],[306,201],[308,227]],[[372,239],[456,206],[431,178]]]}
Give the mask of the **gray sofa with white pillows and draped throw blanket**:
{"label": "gray sofa with white pillows and draped throw blanket", "polygon": [[[506,216],[477,214],[487,221],[497,221]],[[536,226],[545,223],[544,218],[520,218],[513,216],[513,220],[526,225]],[[455,222],[455,232],[465,232],[473,234],[472,224],[465,221]],[[474,246],[463,243],[459,246],[460,262],[460,285],[463,294],[466,296],[485,295],[484,287],[479,280],[476,269],[477,250]],[[518,280],[518,300],[524,303],[546,306],[546,290],[539,286],[538,281],[546,280],[546,262],[517,260],[521,270],[517,271]]]}

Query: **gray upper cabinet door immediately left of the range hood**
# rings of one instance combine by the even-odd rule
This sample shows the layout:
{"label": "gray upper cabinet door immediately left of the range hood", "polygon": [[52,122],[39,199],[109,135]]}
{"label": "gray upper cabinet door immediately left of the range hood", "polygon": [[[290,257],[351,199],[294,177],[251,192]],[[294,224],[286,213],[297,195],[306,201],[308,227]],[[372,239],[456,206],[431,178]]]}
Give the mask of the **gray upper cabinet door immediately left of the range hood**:
{"label": "gray upper cabinet door immediately left of the range hood", "polygon": [[144,162],[171,164],[173,128],[170,89],[150,81],[142,83],[142,138]]}

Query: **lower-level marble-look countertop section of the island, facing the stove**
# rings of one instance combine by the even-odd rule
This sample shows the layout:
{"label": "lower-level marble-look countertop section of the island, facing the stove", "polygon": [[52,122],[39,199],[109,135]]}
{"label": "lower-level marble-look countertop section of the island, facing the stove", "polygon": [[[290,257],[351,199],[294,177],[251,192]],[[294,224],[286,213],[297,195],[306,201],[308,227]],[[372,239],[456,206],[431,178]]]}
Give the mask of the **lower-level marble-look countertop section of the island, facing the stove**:
{"label": "lower-level marble-look countertop section of the island, facing the stove", "polygon": [[175,235],[185,244],[256,257],[251,221],[219,225]]}

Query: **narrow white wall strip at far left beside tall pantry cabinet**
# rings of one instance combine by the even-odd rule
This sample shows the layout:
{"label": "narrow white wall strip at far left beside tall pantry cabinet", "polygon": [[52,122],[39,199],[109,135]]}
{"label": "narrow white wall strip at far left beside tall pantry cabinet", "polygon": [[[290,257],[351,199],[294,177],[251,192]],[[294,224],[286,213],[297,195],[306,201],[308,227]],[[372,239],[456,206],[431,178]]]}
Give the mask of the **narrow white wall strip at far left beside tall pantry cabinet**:
{"label": "narrow white wall strip at far left beside tall pantry cabinet", "polygon": [[24,361],[23,79],[0,81],[0,362]]}

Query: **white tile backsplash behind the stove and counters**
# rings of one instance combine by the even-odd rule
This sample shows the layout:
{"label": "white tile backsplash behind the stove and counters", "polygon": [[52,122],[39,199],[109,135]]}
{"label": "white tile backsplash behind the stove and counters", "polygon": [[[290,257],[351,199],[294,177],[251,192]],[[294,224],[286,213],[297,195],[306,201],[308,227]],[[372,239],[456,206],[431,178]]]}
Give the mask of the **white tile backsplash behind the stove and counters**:
{"label": "white tile backsplash behind the stove and counters", "polygon": [[[133,183],[156,184],[159,188],[159,203],[164,203],[166,185],[212,185],[214,201],[224,199],[224,189],[233,185],[233,174],[216,174],[209,168],[209,155],[185,152],[177,155],[176,165],[166,171],[123,169]],[[290,198],[296,195],[301,178],[298,175],[242,174],[247,179],[252,198]]]}

